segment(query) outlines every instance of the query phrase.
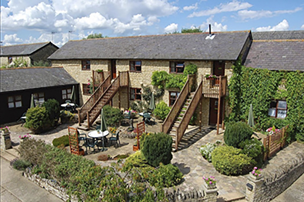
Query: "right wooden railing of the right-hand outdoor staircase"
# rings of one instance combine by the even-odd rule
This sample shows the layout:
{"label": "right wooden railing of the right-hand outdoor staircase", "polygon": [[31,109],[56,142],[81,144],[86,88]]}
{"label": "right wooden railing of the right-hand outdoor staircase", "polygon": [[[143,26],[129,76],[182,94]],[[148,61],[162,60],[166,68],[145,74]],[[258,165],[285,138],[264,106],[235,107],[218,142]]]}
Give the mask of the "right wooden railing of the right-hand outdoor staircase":
{"label": "right wooden railing of the right-hand outdoor staircase", "polygon": [[198,86],[198,88],[195,91],[194,96],[191,99],[191,102],[189,103],[189,106],[185,112],[185,115],[181,122],[179,123],[178,127],[176,128],[176,139],[175,139],[175,149],[177,150],[178,144],[180,140],[182,139],[182,136],[190,122],[191,117],[193,116],[200,99],[202,97],[202,90],[203,90],[203,82],[201,82]]}

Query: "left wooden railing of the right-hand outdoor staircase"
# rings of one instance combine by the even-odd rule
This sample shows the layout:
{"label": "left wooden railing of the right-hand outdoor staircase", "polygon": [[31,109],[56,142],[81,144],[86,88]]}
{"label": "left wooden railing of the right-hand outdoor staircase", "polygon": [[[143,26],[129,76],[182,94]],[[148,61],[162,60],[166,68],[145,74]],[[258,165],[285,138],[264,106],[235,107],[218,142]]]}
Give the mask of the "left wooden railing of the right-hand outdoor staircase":
{"label": "left wooden railing of the right-hand outdoor staircase", "polygon": [[161,131],[167,133],[171,128],[173,121],[175,120],[180,108],[183,106],[185,99],[191,91],[190,80],[194,77],[194,75],[188,75],[188,79],[183,86],[181,92],[179,93],[174,105],[172,106],[167,118],[161,126]]}

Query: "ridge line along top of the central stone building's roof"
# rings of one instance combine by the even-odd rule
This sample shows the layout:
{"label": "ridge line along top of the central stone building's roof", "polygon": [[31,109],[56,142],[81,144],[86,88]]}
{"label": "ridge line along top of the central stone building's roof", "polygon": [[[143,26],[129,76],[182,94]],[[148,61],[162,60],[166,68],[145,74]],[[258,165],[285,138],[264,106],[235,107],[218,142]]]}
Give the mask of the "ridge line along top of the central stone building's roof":
{"label": "ridge line along top of the central stone building's roof", "polygon": [[[236,33],[236,32],[250,32],[250,30],[239,30],[239,31],[213,31],[212,33]],[[88,40],[106,40],[106,39],[122,39],[122,38],[140,38],[140,37],[163,37],[163,36],[172,36],[172,35],[201,35],[209,33],[206,32],[195,32],[195,33],[165,33],[162,35],[142,35],[142,36],[127,36],[127,37],[105,37],[105,38],[95,38],[95,39],[79,39],[79,40],[70,40],[70,41],[88,41]]]}

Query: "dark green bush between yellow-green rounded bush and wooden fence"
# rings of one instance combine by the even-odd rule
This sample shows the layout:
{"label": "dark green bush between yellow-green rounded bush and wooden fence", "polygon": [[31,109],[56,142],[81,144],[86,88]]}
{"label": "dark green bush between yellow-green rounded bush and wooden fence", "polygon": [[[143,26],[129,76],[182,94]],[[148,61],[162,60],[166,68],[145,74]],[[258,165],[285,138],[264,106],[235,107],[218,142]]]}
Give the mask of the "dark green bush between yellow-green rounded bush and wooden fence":
{"label": "dark green bush between yellow-green rounded bush and wooden fence", "polygon": [[245,140],[240,143],[240,148],[242,149],[242,154],[252,158],[252,164],[261,167],[264,158],[264,146],[257,139],[253,138],[251,140]]}

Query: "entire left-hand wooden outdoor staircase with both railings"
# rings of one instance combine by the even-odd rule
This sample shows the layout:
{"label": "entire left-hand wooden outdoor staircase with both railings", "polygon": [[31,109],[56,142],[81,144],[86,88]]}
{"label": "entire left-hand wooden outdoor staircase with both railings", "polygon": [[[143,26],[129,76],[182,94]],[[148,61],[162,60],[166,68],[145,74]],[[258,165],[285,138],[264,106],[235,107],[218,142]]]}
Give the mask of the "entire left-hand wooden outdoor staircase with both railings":
{"label": "entire left-hand wooden outdoor staircase with both railings", "polygon": [[[90,107],[86,107],[86,104],[79,110],[79,127],[83,130],[89,130],[94,121],[99,117],[103,106],[108,104],[110,100],[119,91],[120,87],[129,85],[129,72],[120,72],[116,79],[108,83],[108,79],[97,88],[92,94],[86,104],[90,103]],[[98,92],[97,92],[98,91]],[[99,96],[96,96],[99,94]],[[94,102],[92,103],[92,100]]]}

